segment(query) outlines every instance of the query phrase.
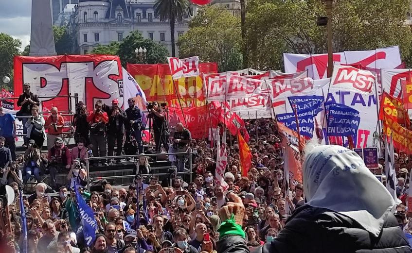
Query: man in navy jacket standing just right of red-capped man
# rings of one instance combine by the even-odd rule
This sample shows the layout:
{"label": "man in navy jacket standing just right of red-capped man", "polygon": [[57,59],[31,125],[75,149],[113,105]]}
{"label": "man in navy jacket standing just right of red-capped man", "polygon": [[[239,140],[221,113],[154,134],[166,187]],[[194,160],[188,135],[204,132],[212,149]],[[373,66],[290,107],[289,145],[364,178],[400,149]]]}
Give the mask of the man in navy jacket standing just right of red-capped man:
{"label": "man in navy jacket standing just right of red-capped man", "polygon": [[130,141],[131,136],[134,136],[137,146],[139,148],[139,154],[143,153],[143,143],[142,143],[142,118],[143,113],[137,105],[135,105],[135,100],[129,98],[127,100],[129,108],[126,109],[127,123],[126,127],[126,138]]}

